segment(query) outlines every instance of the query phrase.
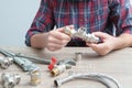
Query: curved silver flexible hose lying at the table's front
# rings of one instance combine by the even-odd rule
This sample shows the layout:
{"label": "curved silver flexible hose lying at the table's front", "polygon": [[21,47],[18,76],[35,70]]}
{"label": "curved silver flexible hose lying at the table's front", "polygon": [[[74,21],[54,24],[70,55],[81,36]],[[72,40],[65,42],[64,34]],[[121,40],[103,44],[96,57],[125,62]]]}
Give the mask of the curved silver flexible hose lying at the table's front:
{"label": "curved silver flexible hose lying at the table's front", "polygon": [[96,80],[105,85],[107,88],[114,88],[113,85],[110,82],[114,84],[117,88],[121,88],[119,82],[111,76],[105,75],[105,74],[99,74],[99,73],[89,73],[89,74],[72,74],[68,77],[61,78],[61,79],[55,79],[54,84],[56,87],[62,86],[63,84],[73,80],[73,79],[90,79],[90,80]]}

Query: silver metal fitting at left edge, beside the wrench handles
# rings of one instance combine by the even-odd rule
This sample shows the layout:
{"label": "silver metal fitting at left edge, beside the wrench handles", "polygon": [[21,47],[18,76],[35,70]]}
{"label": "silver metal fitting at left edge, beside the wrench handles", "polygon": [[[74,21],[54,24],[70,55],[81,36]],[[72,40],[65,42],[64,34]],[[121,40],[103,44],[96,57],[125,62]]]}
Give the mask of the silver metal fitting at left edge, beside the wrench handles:
{"label": "silver metal fitting at left edge, beside the wrench handles", "polygon": [[12,65],[13,58],[12,57],[4,57],[0,56],[0,65],[2,68],[8,68],[10,65]]}

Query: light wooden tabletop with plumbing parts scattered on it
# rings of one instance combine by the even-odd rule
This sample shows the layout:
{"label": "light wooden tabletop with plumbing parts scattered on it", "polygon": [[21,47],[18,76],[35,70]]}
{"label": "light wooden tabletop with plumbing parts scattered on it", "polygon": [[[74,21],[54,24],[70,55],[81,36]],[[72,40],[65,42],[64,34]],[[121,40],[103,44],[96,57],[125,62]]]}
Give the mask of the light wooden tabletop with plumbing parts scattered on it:
{"label": "light wooden tabletop with plumbing parts scattered on it", "polygon": [[[132,48],[124,48],[114,51],[106,56],[99,56],[89,47],[65,47],[57,52],[50,52],[47,50],[34,50],[30,47],[11,46],[1,47],[3,50],[13,53],[23,53],[30,56],[37,56],[50,59],[52,56],[57,59],[75,58],[75,53],[82,53],[81,63],[74,66],[72,69],[67,69],[65,73],[57,77],[51,77],[47,70],[47,65],[36,64],[41,67],[42,82],[38,86],[30,85],[30,76],[23,72],[15,64],[11,65],[8,69],[0,68],[0,76],[2,73],[16,73],[21,76],[21,82],[15,88],[56,88],[54,86],[54,79],[62,78],[68,75],[68,72],[74,73],[102,73],[111,75],[121,85],[122,88],[132,88]],[[1,87],[0,87],[1,88]],[[62,88],[106,88],[99,82],[77,79],[66,82]]]}

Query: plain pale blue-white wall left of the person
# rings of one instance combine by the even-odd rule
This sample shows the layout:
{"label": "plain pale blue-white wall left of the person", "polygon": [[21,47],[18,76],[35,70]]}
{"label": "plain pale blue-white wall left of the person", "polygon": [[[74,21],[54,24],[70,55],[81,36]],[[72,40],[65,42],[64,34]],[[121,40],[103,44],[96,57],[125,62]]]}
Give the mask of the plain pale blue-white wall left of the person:
{"label": "plain pale blue-white wall left of the person", "polygon": [[41,0],[0,0],[0,45],[24,46]]}

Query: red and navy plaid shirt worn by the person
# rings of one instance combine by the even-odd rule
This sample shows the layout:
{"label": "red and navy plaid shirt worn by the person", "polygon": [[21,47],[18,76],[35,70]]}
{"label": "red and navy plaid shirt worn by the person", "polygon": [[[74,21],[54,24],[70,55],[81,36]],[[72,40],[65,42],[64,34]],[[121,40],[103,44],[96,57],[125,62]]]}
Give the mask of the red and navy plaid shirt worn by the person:
{"label": "red and navy plaid shirt worn by the person", "polygon": [[[25,44],[30,46],[30,38],[36,33],[70,24],[75,29],[87,28],[87,33],[132,34],[131,0],[42,0]],[[85,46],[85,42],[74,38],[68,45]]]}

